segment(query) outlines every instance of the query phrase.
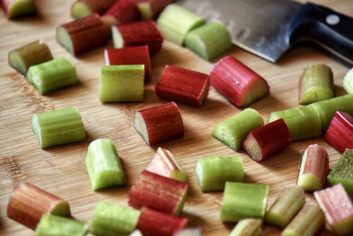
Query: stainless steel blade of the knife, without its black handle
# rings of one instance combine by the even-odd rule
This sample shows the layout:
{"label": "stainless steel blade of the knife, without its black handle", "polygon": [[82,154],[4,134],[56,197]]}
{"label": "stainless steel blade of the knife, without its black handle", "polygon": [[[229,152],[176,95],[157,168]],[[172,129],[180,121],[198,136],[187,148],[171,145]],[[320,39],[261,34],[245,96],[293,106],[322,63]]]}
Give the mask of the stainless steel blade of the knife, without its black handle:
{"label": "stainless steel blade of the knife, without its black handle", "polygon": [[235,45],[269,61],[290,47],[286,32],[303,6],[292,0],[179,0],[178,4],[226,25]]}

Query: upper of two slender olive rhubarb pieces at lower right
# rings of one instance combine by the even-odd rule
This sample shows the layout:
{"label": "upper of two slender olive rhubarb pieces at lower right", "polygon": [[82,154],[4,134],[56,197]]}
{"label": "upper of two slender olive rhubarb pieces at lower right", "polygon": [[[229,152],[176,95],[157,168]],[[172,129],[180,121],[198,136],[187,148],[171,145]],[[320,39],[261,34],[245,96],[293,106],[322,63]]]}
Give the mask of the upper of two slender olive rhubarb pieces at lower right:
{"label": "upper of two slender olive rhubarb pieces at lower right", "polygon": [[275,203],[266,212],[265,222],[285,228],[305,203],[304,190],[297,185],[283,190]]}

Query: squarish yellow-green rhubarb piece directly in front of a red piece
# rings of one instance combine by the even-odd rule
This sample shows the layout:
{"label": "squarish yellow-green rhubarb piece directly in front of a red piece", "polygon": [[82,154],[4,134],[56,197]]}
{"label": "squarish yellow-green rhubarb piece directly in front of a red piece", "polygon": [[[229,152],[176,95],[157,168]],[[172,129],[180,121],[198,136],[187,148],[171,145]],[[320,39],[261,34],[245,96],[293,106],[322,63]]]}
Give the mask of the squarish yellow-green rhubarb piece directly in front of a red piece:
{"label": "squarish yellow-green rhubarb piece directly in front of a red piece", "polygon": [[144,79],[144,65],[102,66],[101,102],[142,102]]}

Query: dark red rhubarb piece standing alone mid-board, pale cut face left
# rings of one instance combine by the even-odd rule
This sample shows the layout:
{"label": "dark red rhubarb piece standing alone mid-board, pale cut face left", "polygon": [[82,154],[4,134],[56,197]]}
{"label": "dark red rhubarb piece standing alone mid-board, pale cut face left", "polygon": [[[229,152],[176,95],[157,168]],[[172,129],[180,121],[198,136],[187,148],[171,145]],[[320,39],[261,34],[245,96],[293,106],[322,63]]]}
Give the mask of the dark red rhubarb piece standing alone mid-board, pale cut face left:
{"label": "dark red rhubarb piece standing alone mid-board, pale cut face left", "polygon": [[175,102],[136,111],[133,125],[148,146],[184,136],[183,118]]}

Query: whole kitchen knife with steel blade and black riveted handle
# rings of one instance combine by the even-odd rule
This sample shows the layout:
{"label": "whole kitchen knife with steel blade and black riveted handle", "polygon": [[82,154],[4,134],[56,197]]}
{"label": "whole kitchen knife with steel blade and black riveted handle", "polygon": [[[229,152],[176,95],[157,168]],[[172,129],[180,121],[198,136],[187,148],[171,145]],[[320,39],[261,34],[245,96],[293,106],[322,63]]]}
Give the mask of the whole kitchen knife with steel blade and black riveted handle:
{"label": "whole kitchen knife with steel blade and black riveted handle", "polygon": [[301,41],[314,41],[353,64],[353,18],[293,0],[179,0],[204,17],[219,20],[234,45],[276,62]]}

